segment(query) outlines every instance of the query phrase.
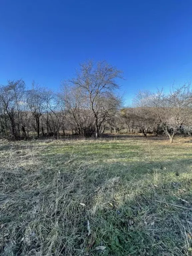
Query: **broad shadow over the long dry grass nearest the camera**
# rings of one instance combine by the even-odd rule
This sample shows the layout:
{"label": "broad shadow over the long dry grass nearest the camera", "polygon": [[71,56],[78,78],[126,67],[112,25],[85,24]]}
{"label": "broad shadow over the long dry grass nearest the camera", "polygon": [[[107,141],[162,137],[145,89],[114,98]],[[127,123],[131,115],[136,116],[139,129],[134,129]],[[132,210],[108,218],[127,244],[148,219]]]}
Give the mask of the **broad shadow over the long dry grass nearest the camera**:
{"label": "broad shadow over the long dry grass nearest the camera", "polygon": [[190,255],[191,158],[62,159],[50,154],[40,166],[1,169],[2,255],[98,255],[101,244],[102,255]]}

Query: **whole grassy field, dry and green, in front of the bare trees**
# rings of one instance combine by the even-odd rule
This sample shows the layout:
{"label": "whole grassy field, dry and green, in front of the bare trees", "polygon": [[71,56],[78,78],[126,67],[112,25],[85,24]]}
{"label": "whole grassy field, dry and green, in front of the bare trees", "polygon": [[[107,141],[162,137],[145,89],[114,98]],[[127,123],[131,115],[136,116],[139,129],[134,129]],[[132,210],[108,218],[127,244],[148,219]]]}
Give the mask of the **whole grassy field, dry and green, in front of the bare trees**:
{"label": "whole grassy field, dry and green, in front of the bare trees", "polygon": [[0,141],[0,255],[192,255],[192,138]]}

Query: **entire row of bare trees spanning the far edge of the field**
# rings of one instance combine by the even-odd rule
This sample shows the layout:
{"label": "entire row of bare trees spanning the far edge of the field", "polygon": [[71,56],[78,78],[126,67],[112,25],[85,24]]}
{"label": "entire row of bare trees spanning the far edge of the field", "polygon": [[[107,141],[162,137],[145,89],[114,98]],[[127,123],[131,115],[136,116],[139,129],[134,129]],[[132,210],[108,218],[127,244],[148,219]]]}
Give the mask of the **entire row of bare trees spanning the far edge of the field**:
{"label": "entire row of bare trees spanning the far edge of the field", "polygon": [[122,72],[105,61],[80,64],[74,78],[63,81],[58,92],[35,82],[27,89],[21,80],[0,87],[0,135],[13,139],[59,138],[65,132],[98,138],[110,132],[192,135],[192,92],[190,84],[138,92],[132,107],[122,107],[117,80]]}

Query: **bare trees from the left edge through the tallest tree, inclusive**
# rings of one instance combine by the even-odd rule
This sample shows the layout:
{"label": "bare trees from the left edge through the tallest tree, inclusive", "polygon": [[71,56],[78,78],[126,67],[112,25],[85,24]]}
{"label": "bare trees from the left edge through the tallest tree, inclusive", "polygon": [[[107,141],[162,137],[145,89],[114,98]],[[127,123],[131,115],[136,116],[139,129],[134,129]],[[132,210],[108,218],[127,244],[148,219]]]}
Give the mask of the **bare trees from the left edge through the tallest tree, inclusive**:
{"label": "bare trees from the left edge through the tallest tree, inclusive", "polygon": [[121,107],[117,78],[122,72],[105,61],[80,64],[75,77],[63,81],[58,92],[35,82],[27,90],[21,80],[0,87],[1,136],[14,139],[30,136],[72,134],[95,136]]}

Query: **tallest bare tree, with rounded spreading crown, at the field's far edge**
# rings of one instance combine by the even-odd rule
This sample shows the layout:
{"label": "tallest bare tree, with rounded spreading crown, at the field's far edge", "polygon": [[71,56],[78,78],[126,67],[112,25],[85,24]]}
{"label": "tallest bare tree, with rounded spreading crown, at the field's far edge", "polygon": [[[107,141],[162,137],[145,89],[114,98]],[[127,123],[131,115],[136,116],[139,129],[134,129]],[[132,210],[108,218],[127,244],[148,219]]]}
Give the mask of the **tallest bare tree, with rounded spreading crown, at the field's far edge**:
{"label": "tallest bare tree, with rounded spreading crown, at the field's far edge", "polygon": [[[102,61],[94,63],[87,61],[80,64],[76,77],[71,83],[77,88],[90,105],[94,115],[95,137],[99,136],[99,128],[114,107],[115,90],[119,88],[117,78],[122,78],[122,72],[116,67]],[[115,99],[115,101],[114,101]]]}

